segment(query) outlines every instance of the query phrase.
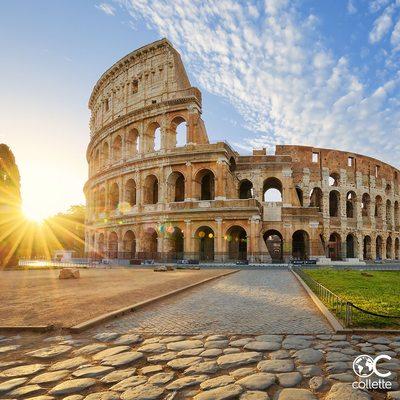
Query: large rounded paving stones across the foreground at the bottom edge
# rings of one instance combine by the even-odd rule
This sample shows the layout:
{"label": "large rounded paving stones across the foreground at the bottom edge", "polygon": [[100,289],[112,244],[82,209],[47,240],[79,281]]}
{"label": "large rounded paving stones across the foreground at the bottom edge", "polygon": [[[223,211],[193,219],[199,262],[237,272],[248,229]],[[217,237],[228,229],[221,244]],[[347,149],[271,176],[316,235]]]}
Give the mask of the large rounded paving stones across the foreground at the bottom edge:
{"label": "large rounded paving stones across the foreground at the bottom edge", "polygon": [[[0,398],[36,400],[383,400],[352,363],[387,354],[398,390],[400,336],[149,336],[103,331],[0,337]],[[373,379],[373,378],[372,378]]]}

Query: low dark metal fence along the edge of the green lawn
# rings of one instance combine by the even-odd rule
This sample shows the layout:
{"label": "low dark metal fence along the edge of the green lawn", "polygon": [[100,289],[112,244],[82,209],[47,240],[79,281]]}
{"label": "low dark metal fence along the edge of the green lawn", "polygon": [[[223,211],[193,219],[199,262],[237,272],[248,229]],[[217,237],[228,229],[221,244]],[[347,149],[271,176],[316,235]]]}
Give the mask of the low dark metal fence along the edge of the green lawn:
{"label": "low dark metal fence along the edge of the green lawn", "polygon": [[353,328],[393,327],[395,329],[400,327],[400,315],[379,314],[373,311],[364,310],[321,285],[307,274],[304,269],[299,267],[293,267],[292,269],[301,277],[301,279],[303,279],[303,281],[328,307],[328,309],[332,311],[340,321],[342,321],[344,326]]}

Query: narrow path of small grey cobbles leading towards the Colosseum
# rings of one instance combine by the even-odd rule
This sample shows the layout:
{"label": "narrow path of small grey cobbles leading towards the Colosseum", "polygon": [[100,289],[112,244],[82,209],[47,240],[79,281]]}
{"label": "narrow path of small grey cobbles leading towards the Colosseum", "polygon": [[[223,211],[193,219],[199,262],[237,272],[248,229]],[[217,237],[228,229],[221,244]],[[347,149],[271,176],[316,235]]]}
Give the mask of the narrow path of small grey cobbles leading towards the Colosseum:
{"label": "narrow path of small grey cobbles leading towards the Colosseum", "polygon": [[106,327],[117,332],[187,335],[331,332],[286,269],[241,271],[118,318]]}

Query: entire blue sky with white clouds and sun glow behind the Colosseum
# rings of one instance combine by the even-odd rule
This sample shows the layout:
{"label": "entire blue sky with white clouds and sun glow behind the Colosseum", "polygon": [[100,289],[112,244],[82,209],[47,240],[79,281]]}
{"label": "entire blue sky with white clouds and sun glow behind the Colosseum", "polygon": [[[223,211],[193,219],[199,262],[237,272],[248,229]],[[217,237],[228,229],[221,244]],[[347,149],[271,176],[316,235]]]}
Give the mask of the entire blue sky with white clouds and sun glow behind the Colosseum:
{"label": "entire blue sky with white clouds and sun glow behind the Colosseum", "polygon": [[400,0],[14,0],[2,2],[0,30],[0,141],[30,214],[83,202],[90,91],[164,36],[203,92],[210,140],[400,165]]}

